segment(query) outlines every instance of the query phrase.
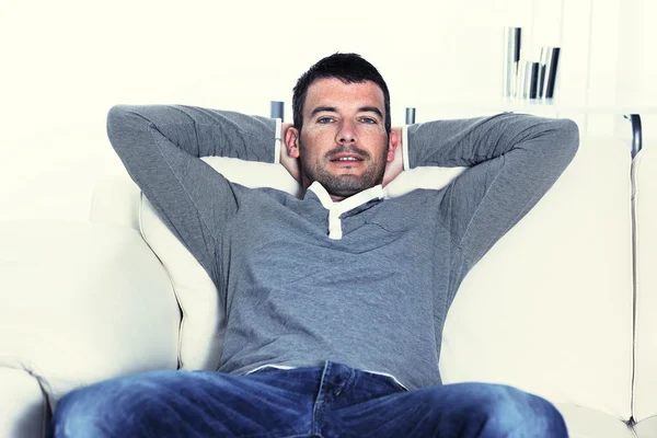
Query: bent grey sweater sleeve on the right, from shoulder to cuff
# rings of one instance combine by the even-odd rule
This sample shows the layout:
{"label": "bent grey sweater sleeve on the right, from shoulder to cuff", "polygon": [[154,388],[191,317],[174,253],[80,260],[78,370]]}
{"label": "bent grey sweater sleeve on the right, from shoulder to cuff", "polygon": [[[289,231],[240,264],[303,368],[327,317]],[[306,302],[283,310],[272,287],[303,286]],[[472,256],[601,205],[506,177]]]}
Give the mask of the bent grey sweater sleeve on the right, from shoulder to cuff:
{"label": "bent grey sweater sleeve on the right, from shoulder to cuff", "polygon": [[446,188],[438,215],[454,249],[450,292],[550,189],[573,160],[579,130],[568,119],[504,113],[408,128],[411,166],[468,166]]}

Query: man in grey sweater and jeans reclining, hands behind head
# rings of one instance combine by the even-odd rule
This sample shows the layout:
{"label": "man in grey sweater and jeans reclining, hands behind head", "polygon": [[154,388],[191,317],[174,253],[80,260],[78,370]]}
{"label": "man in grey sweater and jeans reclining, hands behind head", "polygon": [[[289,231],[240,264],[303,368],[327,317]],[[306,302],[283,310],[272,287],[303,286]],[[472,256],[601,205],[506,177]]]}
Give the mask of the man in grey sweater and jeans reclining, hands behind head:
{"label": "man in grey sweater and jeans reclining, hands behind head", "polygon": [[[385,82],[353,54],[311,67],[293,112],[279,130],[205,108],[110,112],[131,177],[226,304],[221,365],[72,392],[55,435],[566,436],[538,396],[442,385],[438,359],[461,280],[567,166],[576,125],[502,114],[393,130]],[[204,155],[279,161],[304,196],[230,183]],[[470,169],[442,189],[387,198],[381,183],[418,165]]]}

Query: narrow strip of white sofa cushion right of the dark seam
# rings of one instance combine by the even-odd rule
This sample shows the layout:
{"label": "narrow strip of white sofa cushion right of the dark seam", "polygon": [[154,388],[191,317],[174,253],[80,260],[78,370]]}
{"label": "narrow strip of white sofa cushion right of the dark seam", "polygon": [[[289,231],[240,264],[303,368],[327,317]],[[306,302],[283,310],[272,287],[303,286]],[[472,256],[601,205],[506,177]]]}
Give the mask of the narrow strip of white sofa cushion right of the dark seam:
{"label": "narrow strip of white sofa cushion right of the dark seam", "polygon": [[654,148],[644,148],[634,158],[632,178],[636,242],[634,419],[641,424],[657,416],[657,153]]}

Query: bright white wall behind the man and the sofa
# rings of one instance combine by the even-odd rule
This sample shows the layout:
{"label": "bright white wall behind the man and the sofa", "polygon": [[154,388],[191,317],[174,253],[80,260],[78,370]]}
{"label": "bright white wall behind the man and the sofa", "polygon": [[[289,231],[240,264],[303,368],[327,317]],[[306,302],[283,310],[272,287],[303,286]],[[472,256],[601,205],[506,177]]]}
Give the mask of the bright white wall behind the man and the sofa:
{"label": "bright white wall behind the man and the sofa", "polygon": [[[113,104],[268,115],[283,100],[290,119],[298,76],[337,50],[379,67],[395,124],[405,106],[423,119],[437,102],[496,99],[504,25],[526,26],[535,47],[563,45],[562,94],[655,93],[654,65],[637,65],[637,81],[615,64],[627,28],[644,41],[634,53],[653,59],[648,12],[650,0],[1,0],[0,220],[85,220],[96,178],[124,172],[105,136]],[[601,74],[607,55],[614,62]],[[644,125],[655,137],[655,123]]]}

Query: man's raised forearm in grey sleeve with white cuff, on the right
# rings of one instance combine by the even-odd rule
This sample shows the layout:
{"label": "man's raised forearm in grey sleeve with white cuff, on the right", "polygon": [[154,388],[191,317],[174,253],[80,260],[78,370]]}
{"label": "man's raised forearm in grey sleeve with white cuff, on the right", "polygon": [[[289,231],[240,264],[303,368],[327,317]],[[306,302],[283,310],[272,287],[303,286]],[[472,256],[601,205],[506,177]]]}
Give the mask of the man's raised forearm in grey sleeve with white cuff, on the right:
{"label": "man's raised forearm in grey sleeve with white cuff, on the right", "polygon": [[[574,123],[567,119],[542,118],[525,114],[504,113],[493,117],[460,120],[437,120],[407,128],[404,164],[473,166],[500,157],[514,149],[568,147],[577,136]],[[545,137],[554,141],[542,141]]]}

